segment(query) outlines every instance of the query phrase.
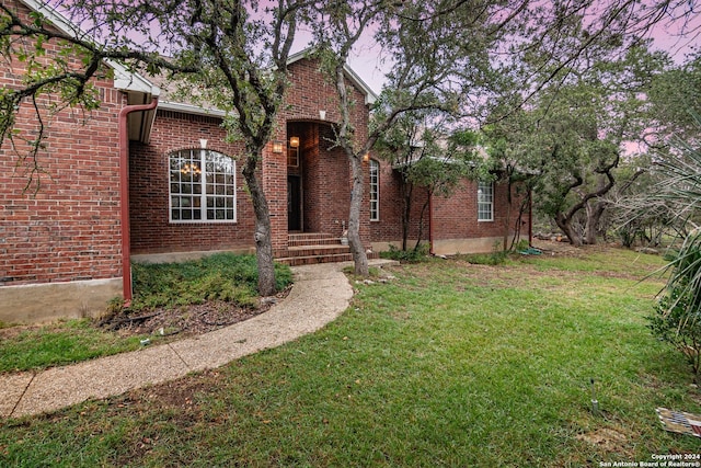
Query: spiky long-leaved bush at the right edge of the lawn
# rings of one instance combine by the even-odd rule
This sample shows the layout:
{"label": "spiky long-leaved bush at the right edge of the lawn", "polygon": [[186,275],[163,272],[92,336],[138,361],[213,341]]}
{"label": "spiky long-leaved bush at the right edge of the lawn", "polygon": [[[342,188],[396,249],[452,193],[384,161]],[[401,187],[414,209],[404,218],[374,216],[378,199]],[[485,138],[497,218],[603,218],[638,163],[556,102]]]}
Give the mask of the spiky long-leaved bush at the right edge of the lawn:
{"label": "spiky long-leaved bush at the right edge of the lawn", "polygon": [[694,378],[701,372],[701,231],[689,236],[667,265],[671,269],[650,328],[689,361]]}

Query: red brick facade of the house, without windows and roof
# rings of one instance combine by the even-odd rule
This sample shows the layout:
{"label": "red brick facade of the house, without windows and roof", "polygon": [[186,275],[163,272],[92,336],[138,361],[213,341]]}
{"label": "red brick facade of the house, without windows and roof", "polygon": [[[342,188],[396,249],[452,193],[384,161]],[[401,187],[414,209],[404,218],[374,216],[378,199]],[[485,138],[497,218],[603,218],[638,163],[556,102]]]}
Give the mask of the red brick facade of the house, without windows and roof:
{"label": "red brick facade of the house, without windows and roof", "polygon": [[[16,0],[9,4],[27,13]],[[44,59],[48,62],[56,47],[47,44],[46,48]],[[5,66],[0,73],[0,84],[19,85],[26,71],[24,67],[23,62]],[[285,147],[289,137],[299,137],[299,165],[288,167],[287,152],[274,152],[272,142],[264,149],[260,162],[276,256],[284,256],[288,251],[289,178],[299,181],[299,206],[295,209],[299,209],[300,218],[295,229],[304,232],[340,237],[343,226],[347,226],[352,190],[349,161],[344,151],[332,144],[334,125],[340,121],[334,84],[323,77],[312,59],[299,58],[289,70],[290,85],[277,116],[273,141],[284,142]],[[32,161],[20,164],[18,161],[26,155],[26,145],[15,138],[16,147],[13,148],[9,140],[0,147],[0,184],[3,187],[0,192],[0,320],[13,319],[15,316],[10,309],[26,303],[27,293],[22,289],[26,285],[65,283],[82,287],[82,282],[93,282],[91,286],[95,282],[112,282],[101,296],[93,295],[92,301],[88,300],[91,293],[76,293],[82,289],[73,288],[67,289],[72,303],[62,308],[53,307],[53,299],[46,297],[43,305],[35,307],[37,310],[56,309],[55,316],[83,313],[95,304],[99,309],[104,307],[105,298],[118,294],[114,288],[114,282],[123,274],[118,114],[127,104],[127,96],[108,79],[96,80],[94,84],[102,103],[99,110],[82,113],[68,109],[50,118],[44,112],[50,127],[38,158],[42,169],[38,192],[24,191],[27,164]],[[357,140],[364,141],[369,123],[368,95],[353,80],[347,84],[354,102],[352,125]],[[44,110],[49,104],[47,99],[39,101]],[[27,139],[36,135],[37,122],[28,103],[20,107],[16,127]],[[241,163],[237,164],[235,222],[170,220],[170,155],[199,149],[200,139],[207,140],[207,149],[234,159],[244,157],[241,142],[227,142],[219,117],[183,113],[168,106],[159,107],[148,142],[129,142],[131,254],[254,250],[255,220]],[[364,162],[364,178],[360,238],[376,250],[398,243],[402,238],[399,174],[388,163],[380,163],[377,221],[369,220],[368,161]],[[420,210],[427,196],[425,190],[415,189],[410,239],[417,236]],[[494,221],[478,222],[476,187],[464,182],[451,197],[433,197],[430,210],[424,218],[423,238],[428,239],[429,232],[433,233],[434,247],[445,252],[476,246],[466,244],[464,240],[482,239],[491,244],[504,236],[506,226],[506,192],[499,185],[495,191],[494,207]],[[9,297],[13,299],[9,300]],[[85,310],[78,311],[81,308]],[[30,311],[26,317],[33,313]]]}

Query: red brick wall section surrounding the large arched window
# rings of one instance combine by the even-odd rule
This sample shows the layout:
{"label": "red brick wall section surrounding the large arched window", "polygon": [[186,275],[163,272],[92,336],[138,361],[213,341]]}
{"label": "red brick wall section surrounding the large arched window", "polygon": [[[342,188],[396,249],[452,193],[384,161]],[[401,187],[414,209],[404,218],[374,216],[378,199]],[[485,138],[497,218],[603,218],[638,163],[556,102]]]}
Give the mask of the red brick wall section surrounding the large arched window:
{"label": "red brick wall section surrounding the large arched window", "polygon": [[170,222],[169,157],[182,149],[207,148],[242,158],[240,144],[225,142],[226,132],[217,117],[158,111],[149,145],[131,141],[129,161],[129,205],[131,253],[163,253],[226,249],[253,246],[255,218],[237,164],[237,222]]}

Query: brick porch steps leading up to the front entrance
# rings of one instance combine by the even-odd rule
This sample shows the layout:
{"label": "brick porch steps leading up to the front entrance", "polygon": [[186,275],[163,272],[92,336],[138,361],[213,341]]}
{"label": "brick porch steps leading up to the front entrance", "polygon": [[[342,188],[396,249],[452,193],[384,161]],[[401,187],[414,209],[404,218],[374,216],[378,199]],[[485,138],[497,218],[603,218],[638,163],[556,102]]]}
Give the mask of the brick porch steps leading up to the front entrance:
{"label": "brick porch steps leading up to the front entrance", "polygon": [[[341,244],[341,238],[329,233],[289,235],[286,256],[275,259],[290,266],[353,261],[348,246]],[[377,259],[377,253],[368,253],[368,259]]]}

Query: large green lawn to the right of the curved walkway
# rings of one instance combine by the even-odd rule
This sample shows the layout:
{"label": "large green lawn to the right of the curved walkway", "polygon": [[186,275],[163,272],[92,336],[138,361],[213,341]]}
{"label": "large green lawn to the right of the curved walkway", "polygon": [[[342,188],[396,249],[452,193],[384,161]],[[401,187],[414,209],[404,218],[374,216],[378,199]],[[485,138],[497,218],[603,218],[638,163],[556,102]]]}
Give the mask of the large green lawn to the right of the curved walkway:
{"label": "large green lawn to the right of the curved walkway", "polygon": [[[0,423],[8,466],[599,466],[699,453],[701,412],[627,251],[430,261],[355,284],[335,322],[222,368]],[[595,379],[600,414],[590,409]]]}

